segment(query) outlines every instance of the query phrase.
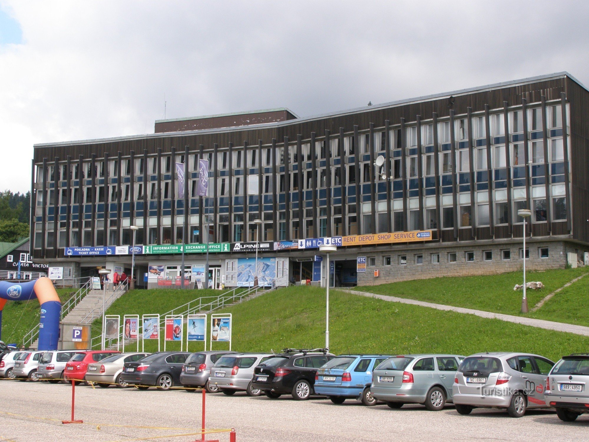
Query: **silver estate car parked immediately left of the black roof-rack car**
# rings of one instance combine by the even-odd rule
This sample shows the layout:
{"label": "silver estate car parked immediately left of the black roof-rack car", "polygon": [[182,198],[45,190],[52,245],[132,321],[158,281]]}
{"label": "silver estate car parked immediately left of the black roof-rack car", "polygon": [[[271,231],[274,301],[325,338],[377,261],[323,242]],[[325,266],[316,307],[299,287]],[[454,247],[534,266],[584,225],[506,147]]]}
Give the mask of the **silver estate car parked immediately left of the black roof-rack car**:
{"label": "silver estate car parked immediately left of the black roof-rack car", "polygon": [[272,354],[267,353],[224,355],[211,368],[209,383],[228,396],[236,391],[245,391],[248,396],[259,396],[262,390],[252,388],[254,369],[270,357]]}

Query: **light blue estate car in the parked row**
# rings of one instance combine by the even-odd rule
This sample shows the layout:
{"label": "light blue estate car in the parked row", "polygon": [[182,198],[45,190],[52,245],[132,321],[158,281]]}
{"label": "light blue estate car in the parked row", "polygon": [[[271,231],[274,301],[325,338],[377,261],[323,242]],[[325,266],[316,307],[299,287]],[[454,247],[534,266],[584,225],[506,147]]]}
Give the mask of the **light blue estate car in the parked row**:
{"label": "light blue estate car in the parked row", "polygon": [[372,371],[386,361],[386,355],[342,355],[333,358],[317,370],[315,393],[326,395],[334,404],[346,399],[358,399],[364,405],[375,405],[370,394]]}

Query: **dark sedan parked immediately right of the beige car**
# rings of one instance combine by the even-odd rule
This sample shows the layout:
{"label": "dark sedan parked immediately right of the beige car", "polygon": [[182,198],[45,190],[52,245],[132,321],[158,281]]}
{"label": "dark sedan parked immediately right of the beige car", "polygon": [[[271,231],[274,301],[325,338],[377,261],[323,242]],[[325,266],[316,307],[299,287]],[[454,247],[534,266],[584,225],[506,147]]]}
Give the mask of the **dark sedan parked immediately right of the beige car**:
{"label": "dark sedan parked immediately right of the beige car", "polygon": [[125,362],[121,382],[137,385],[140,390],[157,387],[158,390],[170,390],[180,385],[180,373],[190,353],[164,351],[153,353],[137,362]]}

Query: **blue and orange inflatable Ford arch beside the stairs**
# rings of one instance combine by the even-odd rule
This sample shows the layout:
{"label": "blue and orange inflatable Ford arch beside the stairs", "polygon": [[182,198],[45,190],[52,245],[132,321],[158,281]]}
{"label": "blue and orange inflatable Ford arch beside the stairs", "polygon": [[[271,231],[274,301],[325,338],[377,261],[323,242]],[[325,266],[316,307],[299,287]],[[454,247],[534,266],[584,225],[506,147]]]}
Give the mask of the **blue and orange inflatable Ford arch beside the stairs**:
{"label": "blue and orange inflatable Ford arch beside the stairs", "polygon": [[6,301],[28,301],[37,296],[41,304],[38,350],[57,350],[61,301],[49,278],[37,281],[0,281],[0,337],[2,337],[2,309]]}

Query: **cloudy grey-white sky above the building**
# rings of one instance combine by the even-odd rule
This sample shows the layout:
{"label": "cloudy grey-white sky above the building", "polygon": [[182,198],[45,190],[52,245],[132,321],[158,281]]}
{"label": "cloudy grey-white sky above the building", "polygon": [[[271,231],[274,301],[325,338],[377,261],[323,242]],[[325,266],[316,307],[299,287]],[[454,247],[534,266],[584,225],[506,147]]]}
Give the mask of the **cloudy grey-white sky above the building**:
{"label": "cloudy grey-white sky above the building", "polygon": [[0,190],[33,144],[154,121],[299,116],[568,71],[589,84],[587,1],[0,0]]}

